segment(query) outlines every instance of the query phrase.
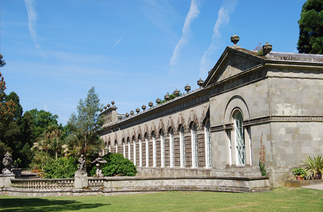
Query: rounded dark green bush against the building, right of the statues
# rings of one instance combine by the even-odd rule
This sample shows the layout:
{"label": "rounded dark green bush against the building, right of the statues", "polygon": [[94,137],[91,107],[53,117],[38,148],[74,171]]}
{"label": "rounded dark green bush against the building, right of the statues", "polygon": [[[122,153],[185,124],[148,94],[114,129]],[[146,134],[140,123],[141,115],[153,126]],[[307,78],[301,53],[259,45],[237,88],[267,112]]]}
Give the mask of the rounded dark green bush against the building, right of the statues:
{"label": "rounded dark green bush against the building, right of the statues", "polygon": [[[135,176],[137,173],[137,168],[133,163],[120,153],[108,153],[102,158],[107,161],[106,164],[101,166],[104,176]],[[90,171],[90,175],[94,176],[96,170],[97,167],[94,166]]]}

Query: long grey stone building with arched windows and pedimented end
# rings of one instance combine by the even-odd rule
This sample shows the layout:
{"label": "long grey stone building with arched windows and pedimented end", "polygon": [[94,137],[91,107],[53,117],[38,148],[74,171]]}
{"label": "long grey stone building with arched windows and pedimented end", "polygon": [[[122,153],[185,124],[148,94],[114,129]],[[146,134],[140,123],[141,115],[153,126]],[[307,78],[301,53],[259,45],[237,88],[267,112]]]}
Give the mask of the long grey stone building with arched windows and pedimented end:
{"label": "long grey stone building with arched windows and pedimented end", "polygon": [[323,56],[228,46],[200,88],[135,115],[104,110],[101,154],[124,154],[141,177],[259,177],[262,136],[270,186],[282,186],[323,152],[322,79]]}

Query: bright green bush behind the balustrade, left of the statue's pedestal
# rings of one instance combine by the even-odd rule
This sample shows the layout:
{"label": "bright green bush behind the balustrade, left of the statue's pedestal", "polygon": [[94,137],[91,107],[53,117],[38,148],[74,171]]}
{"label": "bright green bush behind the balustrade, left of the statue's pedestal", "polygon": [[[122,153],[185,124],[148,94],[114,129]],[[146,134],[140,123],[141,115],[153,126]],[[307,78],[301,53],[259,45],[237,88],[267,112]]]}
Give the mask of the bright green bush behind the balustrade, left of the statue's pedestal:
{"label": "bright green bush behind the balustrade, left of the statue's pedestal", "polygon": [[47,179],[73,178],[77,171],[77,165],[73,158],[60,157],[47,163],[43,172]]}

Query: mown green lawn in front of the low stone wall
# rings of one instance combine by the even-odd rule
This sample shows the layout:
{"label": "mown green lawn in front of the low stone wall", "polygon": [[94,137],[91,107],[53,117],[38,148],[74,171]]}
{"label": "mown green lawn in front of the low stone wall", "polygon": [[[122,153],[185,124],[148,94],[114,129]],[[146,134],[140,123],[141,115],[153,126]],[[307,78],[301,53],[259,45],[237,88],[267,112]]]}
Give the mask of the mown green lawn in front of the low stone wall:
{"label": "mown green lawn in front of the low stone wall", "polygon": [[0,196],[1,211],[323,211],[323,191],[158,192],[116,196]]}

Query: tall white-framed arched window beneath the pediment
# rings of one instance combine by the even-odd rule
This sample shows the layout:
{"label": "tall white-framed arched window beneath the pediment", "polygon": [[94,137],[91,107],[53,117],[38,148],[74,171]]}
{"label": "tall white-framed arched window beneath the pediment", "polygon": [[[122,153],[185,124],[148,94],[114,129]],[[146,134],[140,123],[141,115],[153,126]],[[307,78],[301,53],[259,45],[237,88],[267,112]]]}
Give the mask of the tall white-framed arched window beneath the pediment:
{"label": "tall white-framed arched window beneath the pediment", "polygon": [[244,136],[244,129],[242,126],[242,121],[243,121],[243,116],[242,116],[242,113],[239,111],[235,116],[235,134],[236,134],[238,165],[246,164],[245,136]]}

